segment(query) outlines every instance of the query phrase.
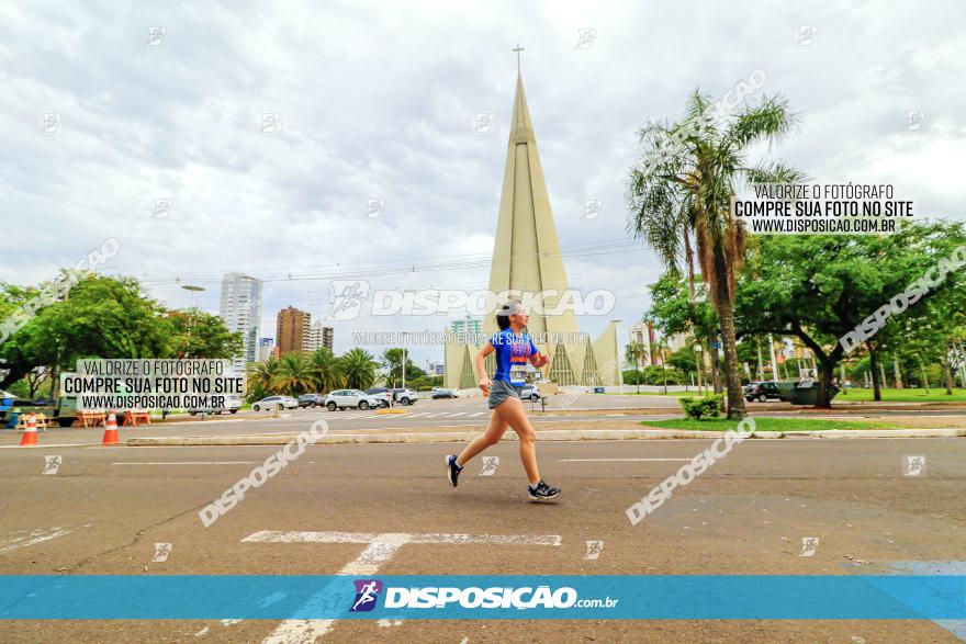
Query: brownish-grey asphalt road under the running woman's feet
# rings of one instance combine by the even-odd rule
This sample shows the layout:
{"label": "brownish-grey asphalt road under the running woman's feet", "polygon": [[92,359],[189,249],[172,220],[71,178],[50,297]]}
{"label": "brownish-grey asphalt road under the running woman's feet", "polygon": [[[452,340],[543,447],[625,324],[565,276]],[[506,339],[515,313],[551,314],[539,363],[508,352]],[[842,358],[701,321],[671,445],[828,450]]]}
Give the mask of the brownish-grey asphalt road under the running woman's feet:
{"label": "brownish-grey asphalt road under the running woman's feet", "polygon": [[[3,574],[319,574],[362,543],[243,541],[261,531],[559,535],[560,545],[408,544],[380,574],[842,574],[898,561],[963,558],[966,441],[746,441],[658,511],[625,510],[710,441],[541,443],[564,492],[526,500],[516,445],[492,475],[443,479],[448,444],[317,445],[209,528],[198,517],[277,448],[0,450]],[[924,475],[902,475],[923,454]],[[45,456],[59,455],[56,474]],[[670,459],[670,460],[669,460]],[[812,556],[801,540],[817,536]],[[597,560],[586,542],[603,541]],[[155,543],[170,543],[153,563]],[[105,601],[110,601],[105,598]],[[335,622],[319,642],[955,642],[931,622]],[[4,642],[297,642],[291,624],[250,621],[5,622]]]}

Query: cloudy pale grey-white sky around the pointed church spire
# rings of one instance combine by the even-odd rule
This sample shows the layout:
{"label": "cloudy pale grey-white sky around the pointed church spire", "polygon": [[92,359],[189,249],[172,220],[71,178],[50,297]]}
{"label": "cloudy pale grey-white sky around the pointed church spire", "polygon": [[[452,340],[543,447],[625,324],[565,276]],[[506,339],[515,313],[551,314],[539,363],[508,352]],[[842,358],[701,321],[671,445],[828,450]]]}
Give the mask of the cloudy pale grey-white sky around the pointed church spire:
{"label": "cloudy pale grey-white sky around the pointed church spire", "polygon": [[[172,307],[192,304],[180,284],[204,286],[199,304],[217,312],[222,273],[266,279],[262,336],[288,305],[327,313],[334,278],[485,287],[520,43],[571,286],[618,298],[582,330],[618,317],[625,339],[661,270],[625,233],[634,133],[676,117],[696,86],[720,97],[763,69],[760,93],[782,92],[802,121],[756,156],[966,216],[966,4],[849,4],[11,0],[0,280],[48,280],[116,237],[105,272]],[[262,113],[279,132],[260,132]],[[494,114],[491,134],[473,132],[478,113]],[[59,115],[55,132],[44,114]],[[384,210],[364,218],[371,199]],[[585,200],[603,203],[596,218]],[[337,323],[336,350],[353,330],[443,325]],[[420,365],[441,355],[414,350]]]}

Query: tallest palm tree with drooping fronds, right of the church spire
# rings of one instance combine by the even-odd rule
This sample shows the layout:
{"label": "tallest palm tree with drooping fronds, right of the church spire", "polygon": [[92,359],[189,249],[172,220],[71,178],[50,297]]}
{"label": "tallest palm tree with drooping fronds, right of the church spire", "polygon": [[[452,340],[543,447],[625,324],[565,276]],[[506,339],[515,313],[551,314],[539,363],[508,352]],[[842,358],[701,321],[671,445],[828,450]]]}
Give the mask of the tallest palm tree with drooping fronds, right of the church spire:
{"label": "tallest palm tree with drooping fronds, right of the church spire", "polygon": [[692,249],[696,249],[721,324],[728,417],[741,419],[746,413],[738,375],[733,300],[745,234],[731,216],[731,196],[739,181],[784,183],[805,177],[782,163],[745,163],[751,145],[778,140],[795,127],[797,118],[784,98],[765,98],[724,123],[716,123],[714,112],[709,97],[695,90],[684,121],[652,122],[640,131],[644,155],[628,179],[628,230],[656,251],[675,278],[685,259],[694,280]]}

